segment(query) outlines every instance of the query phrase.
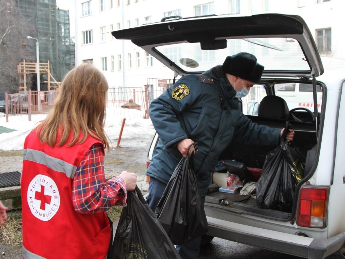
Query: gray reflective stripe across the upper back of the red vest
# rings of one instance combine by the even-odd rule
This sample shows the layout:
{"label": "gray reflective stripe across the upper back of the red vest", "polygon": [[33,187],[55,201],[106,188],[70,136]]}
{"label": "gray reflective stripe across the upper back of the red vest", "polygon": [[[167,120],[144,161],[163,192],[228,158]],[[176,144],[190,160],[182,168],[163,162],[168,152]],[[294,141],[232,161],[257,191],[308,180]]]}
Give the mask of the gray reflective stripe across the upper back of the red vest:
{"label": "gray reflective stripe across the upper back of the red vest", "polygon": [[73,178],[77,170],[77,166],[69,164],[61,159],[47,155],[42,151],[27,148],[24,149],[23,153],[23,160],[28,160],[42,165],[46,165],[48,168],[54,171],[65,173],[69,178]]}

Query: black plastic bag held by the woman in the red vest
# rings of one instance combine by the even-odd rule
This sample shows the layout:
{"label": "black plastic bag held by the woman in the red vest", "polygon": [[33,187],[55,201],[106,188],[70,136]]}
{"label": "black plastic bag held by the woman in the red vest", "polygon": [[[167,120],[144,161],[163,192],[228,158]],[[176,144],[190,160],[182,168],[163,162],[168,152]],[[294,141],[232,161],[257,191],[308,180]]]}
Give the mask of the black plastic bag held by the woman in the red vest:
{"label": "black plastic bag held by the woman in the red vest", "polygon": [[108,259],[181,259],[138,186],[127,193]]}

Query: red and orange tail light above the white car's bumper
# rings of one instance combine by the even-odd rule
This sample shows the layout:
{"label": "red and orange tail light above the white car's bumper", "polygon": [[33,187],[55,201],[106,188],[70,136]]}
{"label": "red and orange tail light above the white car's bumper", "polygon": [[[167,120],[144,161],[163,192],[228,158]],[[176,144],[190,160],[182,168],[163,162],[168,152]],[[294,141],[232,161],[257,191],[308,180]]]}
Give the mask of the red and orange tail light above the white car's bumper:
{"label": "red and orange tail light above the white car's bumper", "polygon": [[309,228],[326,227],[327,200],[327,188],[301,188],[297,207],[297,225]]}

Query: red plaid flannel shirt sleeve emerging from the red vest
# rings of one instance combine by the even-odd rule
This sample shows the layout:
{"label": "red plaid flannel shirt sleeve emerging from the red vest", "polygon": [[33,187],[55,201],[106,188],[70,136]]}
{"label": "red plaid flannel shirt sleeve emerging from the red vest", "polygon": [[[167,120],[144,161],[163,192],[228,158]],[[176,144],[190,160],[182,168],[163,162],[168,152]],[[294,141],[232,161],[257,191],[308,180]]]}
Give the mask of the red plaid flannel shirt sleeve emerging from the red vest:
{"label": "red plaid flannel shirt sleeve emerging from the red vest", "polygon": [[101,144],[86,153],[73,178],[72,202],[79,213],[97,213],[113,205],[127,206],[126,183],[116,176],[105,181],[104,154]]}

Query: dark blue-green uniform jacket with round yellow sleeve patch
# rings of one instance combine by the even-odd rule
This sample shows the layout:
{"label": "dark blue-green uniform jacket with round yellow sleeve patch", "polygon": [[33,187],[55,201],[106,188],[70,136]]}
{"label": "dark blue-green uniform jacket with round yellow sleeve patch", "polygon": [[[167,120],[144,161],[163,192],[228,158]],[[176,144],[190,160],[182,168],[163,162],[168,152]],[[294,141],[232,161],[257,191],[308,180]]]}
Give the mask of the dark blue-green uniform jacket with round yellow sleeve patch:
{"label": "dark blue-green uniform jacket with round yellow sleeve patch", "polygon": [[222,108],[220,95],[235,93],[217,66],[201,76],[183,76],[153,100],[149,114],[159,141],[146,175],[167,183],[182,158],[177,144],[190,138],[198,142],[194,168],[200,194],[205,196],[210,172],[233,138],[242,143],[278,145],[280,130],[253,123],[236,105]]}

